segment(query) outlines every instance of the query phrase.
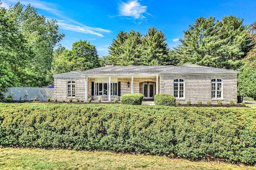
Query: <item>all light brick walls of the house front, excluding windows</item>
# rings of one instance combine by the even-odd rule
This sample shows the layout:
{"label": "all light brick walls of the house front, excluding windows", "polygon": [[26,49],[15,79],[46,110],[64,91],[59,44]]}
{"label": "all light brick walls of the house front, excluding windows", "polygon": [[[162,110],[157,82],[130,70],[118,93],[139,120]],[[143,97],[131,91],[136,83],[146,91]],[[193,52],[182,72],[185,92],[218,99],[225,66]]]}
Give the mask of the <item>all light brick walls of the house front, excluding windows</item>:
{"label": "all light brick walls of the house front, excluding windows", "polygon": [[[197,104],[200,100],[203,104],[206,104],[208,100],[212,101],[212,104],[216,104],[218,100],[211,99],[211,80],[214,78],[220,78],[223,80],[223,104],[228,104],[230,100],[237,102],[237,82],[236,74],[228,75],[160,75],[158,77],[159,82],[159,94],[173,95],[173,80],[184,79],[184,100],[180,99],[182,104],[186,104],[188,100],[192,104]],[[76,97],[81,100],[85,99],[85,78],[54,78],[54,98],[57,100],[66,100],[67,97],[67,82],[73,80],[76,82]],[[130,82],[130,87],[127,86],[127,82]],[[88,97],[92,97],[92,82],[94,79],[88,78]],[[131,78],[118,78],[118,82],[121,82],[121,96],[126,93],[131,93],[132,82]],[[155,77],[151,78],[134,78],[134,93],[143,94],[142,82],[156,82]],[[155,84],[156,88],[156,84]],[[75,99],[74,98],[74,99]],[[119,96],[111,96],[111,100]],[[98,96],[93,96],[93,100],[98,100]],[[103,96],[102,100],[108,100],[108,96]],[[179,99],[177,99],[179,100]]]}

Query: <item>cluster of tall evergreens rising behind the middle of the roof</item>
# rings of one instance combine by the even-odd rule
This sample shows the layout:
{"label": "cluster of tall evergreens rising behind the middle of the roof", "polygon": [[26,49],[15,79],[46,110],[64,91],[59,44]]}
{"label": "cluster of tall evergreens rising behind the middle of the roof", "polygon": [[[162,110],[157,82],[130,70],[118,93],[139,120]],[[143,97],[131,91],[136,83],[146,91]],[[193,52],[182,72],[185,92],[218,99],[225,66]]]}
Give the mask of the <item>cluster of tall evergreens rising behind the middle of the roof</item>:
{"label": "cluster of tall evergreens rising behind the middle of the roof", "polygon": [[109,47],[110,63],[118,66],[126,65],[166,65],[168,45],[162,31],[149,28],[146,35],[131,30],[120,31]]}

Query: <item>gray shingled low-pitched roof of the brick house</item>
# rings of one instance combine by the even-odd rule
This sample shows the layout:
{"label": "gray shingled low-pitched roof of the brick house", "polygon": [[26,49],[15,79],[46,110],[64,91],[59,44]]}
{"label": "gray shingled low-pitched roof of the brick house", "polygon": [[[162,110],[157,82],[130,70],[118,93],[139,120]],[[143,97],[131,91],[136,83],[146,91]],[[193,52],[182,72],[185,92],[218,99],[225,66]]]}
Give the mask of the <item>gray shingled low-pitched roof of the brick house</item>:
{"label": "gray shingled low-pitched roof of the brick house", "polygon": [[126,74],[238,74],[239,71],[184,64],[182,66],[104,66],[85,71],[72,71],[57,76],[93,76],[93,75],[126,75]]}

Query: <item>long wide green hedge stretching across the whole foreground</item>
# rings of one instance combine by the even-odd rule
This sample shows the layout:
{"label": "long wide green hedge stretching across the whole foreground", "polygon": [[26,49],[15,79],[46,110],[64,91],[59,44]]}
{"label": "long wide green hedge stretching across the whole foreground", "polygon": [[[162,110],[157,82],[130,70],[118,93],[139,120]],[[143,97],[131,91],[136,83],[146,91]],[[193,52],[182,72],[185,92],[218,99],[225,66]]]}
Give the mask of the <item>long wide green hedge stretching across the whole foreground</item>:
{"label": "long wide green hedge stretching across the whole foreground", "polygon": [[256,109],[0,104],[3,147],[205,156],[256,164]]}

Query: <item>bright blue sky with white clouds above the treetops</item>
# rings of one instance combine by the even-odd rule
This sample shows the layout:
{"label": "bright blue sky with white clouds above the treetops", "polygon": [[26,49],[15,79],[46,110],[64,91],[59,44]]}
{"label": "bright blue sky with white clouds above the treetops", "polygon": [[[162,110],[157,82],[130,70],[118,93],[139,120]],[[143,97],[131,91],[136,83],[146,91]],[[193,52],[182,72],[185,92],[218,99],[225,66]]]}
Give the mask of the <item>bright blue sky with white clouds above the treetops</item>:
{"label": "bright blue sky with white clouds above the treetops", "polygon": [[[16,4],[16,0],[2,0],[2,7]],[[65,37],[60,43],[71,49],[81,40],[95,45],[100,57],[108,55],[108,47],[122,30],[134,29],[145,34],[156,27],[166,35],[169,48],[180,44],[183,31],[196,18],[234,15],[244,24],[256,21],[256,0],[20,0],[31,4],[40,15],[58,20],[59,32]]]}

